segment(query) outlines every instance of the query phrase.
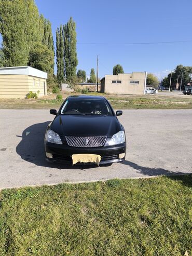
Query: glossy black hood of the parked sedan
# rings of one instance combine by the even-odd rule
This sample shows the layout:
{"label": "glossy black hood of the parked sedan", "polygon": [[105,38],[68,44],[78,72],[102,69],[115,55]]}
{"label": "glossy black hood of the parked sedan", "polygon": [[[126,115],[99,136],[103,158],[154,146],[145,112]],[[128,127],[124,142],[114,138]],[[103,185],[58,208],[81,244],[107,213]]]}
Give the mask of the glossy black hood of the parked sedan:
{"label": "glossy black hood of the parked sedan", "polygon": [[49,129],[64,136],[101,136],[112,137],[122,130],[116,116],[58,115]]}

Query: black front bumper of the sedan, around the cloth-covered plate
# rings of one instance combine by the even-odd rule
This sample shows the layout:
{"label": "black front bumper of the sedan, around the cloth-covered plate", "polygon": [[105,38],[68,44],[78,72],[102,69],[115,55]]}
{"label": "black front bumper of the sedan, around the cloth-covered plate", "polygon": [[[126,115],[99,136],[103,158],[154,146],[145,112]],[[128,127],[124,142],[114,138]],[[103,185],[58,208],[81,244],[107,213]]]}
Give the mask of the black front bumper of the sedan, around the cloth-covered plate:
{"label": "black front bumper of the sedan, around the cloth-covered plate", "polygon": [[[125,160],[119,158],[119,154],[126,153],[126,143],[122,143],[114,146],[102,146],[102,147],[72,147],[68,145],[53,144],[45,141],[45,152],[51,153],[52,158],[46,157],[46,160],[50,162],[66,163],[72,165],[73,154],[97,154],[101,156],[100,165],[111,164]],[[83,164],[83,163],[79,163]],[[94,163],[86,163],[93,164]]]}

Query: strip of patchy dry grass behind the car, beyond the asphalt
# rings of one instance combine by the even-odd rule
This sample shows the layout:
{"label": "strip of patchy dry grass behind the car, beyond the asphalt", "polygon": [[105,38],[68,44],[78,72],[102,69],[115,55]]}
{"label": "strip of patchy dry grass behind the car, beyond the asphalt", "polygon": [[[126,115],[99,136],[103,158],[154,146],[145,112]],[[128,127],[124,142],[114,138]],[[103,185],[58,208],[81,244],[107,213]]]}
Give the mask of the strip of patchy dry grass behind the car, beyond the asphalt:
{"label": "strip of patchy dry grass behind the car, beyond the asphalt", "polygon": [[[56,97],[52,95],[51,97]],[[108,96],[114,109],[192,109],[192,98],[169,96]],[[63,95],[63,100],[66,95]],[[51,99],[1,99],[0,109],[59,109],[63,100]]]}

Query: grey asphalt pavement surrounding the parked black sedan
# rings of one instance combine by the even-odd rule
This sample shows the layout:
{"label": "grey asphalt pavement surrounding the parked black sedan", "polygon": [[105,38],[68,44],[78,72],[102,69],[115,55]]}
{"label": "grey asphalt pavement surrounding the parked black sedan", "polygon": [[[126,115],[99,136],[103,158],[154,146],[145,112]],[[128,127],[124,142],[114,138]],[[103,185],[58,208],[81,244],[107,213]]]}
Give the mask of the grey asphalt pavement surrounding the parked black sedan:
{"label": "grey asphalt pavement surrounding the parked black sedan", "polygon": [[192,110],[124,110],[123,163],[108,167],[49,164],[49,110],[0,110],[0,188],[192,173]]}

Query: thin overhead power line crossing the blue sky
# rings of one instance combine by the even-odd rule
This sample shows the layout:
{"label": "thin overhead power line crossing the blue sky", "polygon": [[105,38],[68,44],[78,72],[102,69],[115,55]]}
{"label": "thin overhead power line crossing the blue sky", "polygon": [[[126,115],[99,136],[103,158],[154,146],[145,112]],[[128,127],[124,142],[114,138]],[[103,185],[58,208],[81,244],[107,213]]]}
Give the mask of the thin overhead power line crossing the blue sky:
{"label": "thin overhead power line crossing the blue sky", "polygon": [[192,40],[186,41],[170,41],[170,42],[145,42],[145,43],[78,43],[79,45],[155,45],[155,44],[175,44],[175,43],[187,43]]}

